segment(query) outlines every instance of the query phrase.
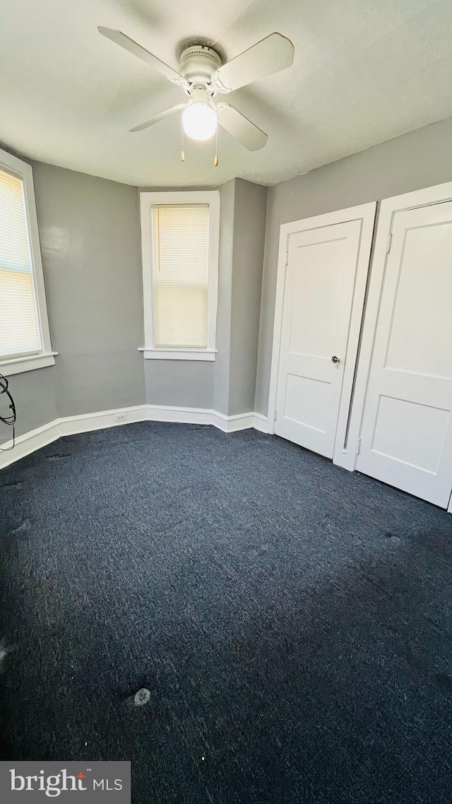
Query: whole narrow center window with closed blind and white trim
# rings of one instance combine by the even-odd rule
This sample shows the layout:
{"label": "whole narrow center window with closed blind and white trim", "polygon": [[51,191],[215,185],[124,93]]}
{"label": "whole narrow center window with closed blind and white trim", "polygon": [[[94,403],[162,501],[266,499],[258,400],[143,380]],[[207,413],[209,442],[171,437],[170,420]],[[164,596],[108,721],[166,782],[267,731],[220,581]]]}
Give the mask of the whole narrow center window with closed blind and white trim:
{"label": "whole narrow center window with closed blind and white trim", "polygon": [[148,359],[214,360],[220,196],[142,193]]}

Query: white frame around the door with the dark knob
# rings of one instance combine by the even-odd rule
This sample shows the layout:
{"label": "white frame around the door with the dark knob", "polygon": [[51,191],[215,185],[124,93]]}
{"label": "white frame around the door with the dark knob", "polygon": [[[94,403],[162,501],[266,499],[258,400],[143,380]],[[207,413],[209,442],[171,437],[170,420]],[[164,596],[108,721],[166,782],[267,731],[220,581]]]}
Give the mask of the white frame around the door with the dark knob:
{"label": "white frame around the door with the dark knob", "polygon": [[[351,443],[347,438],[348,419],[355,377],[355,366],[360,342],[361,322],[364,311],[364,297],[368,280],[368,269],[372,248],[372,236],[376,217],[376,201],[360,204],[357,207],[347,207],[324,215],[314,215],[311,218],[291,221],[290,224],[281,224],[279,233],[279,251],[277,258],[277,283],[275,297],[275,314],[273,324],[273,348],[269,385],[268,427],[269,433],[275,432],[275,408],[277,400],[277,379],[279,374],[279,358],[281,351],[282,310],[284,304],[284,289],[286,285],[286,268],[289,256],[290,235],[306,232],[309,229],[324,228],[334,224],[347,224],[353,220],[361,220],[360,250],[355,276],[355,288],[351,303],[351,321],[347,343],[347,361],[343,372],[342,392],[339,403],[339,417],[335,436],[335,449],[333,463],[345,469],[355,469],[355,454],[350,454]],[[346,443],[347,441],[347,443]],[[356,440],[353,443],[355,453]]]}

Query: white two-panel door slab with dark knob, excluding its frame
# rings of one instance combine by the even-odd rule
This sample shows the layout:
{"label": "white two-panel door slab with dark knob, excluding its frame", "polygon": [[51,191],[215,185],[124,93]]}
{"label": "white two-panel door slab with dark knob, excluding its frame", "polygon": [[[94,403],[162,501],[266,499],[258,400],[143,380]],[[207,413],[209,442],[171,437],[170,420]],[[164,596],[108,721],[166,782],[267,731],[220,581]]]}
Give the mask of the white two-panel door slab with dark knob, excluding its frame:
{"label": "white two-panel door slab with dark knob, excluding its frame", "polygon": [[326,457],[335,448],[362,224],[349,220],[289,238],[275,432]]}

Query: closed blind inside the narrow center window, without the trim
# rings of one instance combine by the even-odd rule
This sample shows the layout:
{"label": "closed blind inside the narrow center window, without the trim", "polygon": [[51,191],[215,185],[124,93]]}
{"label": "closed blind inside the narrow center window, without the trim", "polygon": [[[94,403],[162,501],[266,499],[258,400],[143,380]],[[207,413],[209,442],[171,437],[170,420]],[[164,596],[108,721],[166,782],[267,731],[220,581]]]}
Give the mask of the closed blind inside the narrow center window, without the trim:
{"label": "closed blind inside the narrow center window, without the trim", "polygon": [[208,204],[152,207],[154,345],[208,345]]}

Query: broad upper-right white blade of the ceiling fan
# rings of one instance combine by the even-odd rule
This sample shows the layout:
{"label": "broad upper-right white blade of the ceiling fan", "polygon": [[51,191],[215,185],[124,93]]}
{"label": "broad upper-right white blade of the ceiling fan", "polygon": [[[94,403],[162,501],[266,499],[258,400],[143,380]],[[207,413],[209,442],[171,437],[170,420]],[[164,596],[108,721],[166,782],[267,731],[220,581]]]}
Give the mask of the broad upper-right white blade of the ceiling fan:
{"label": "broad upper-right white blade of the ceiling fan", "polygon": [[233,92],[290,67],[293,61],[294,45],[290,39],[281,34],[270,34],[213,72],[211,81],[217,92]]}

